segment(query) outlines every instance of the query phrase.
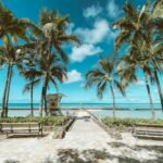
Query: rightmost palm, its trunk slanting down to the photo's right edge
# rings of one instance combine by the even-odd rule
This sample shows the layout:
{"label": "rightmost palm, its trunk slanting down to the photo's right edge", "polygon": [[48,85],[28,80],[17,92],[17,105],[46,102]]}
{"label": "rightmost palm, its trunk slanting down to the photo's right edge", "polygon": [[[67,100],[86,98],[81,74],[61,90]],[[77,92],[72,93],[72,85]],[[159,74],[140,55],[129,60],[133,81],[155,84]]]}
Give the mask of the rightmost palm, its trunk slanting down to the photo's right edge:
{"label": "rightmost palm, its trunk slanting down to the photo's right edge", "polygon": [[[151,42],[150,42],[151,41]],[[143,42],[143,43],[142,43]],[[137,41],[131,45],[133,48],[130,57],[135,58],[139,63],[146,63],[150,66],[152,74],[150,78],[152,83],[156,84],[160,101],[163,110],[163,93],[161,89],[161,84],[158,74],[163,73],[162,62],[163,62],[163,43],[155,40],[149,40],[150,48],[147,47],[146,41]]]}

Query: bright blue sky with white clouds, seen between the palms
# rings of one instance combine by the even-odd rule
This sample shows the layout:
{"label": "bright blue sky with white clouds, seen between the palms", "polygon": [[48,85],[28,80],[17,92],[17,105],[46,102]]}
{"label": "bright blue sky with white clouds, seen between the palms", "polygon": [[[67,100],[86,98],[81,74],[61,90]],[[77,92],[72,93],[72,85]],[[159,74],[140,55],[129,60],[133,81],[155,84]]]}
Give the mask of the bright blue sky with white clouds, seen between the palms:
{"label": "bright blue sky with white clouds, seen between the palms", "polygon": [[[131,0],[135,5],[141,8],[145,0]],[[114,20],[123,15],[122,5],[125,0],[3,0],[3,3],[13,11],[17,17],[28,17],[37,23],[39,10],[43,7],[58,10],[63,15],[70,15],[71,24],[66,32],[77,35],[82,45],[79,47],[64,46],[70,57],[68,80],[59,85],[60,91],[67,95],[63,102],[112,102],[109,90],[105,91],[102,100],[96,96],[96,89],[84,89],[85,74],[96,66],[102,54],[113,52],[114,38],[117,32],[112,28]],[[125,49],[120,51],[120,55]],[[127,88],[127,97],[123,98],[116,92],[117,103],[148,103],[147,90],[141,72],[138,72],[139,82]],[[0,99],[2,98],[7,70],[0,71]],[[161,78],[161,82],[162,78]],[[10,102],[29,102],[29,93],[23,95],[22,90],[25,80],[16,70],[12,78]],[[55,92],[50,86],[49,92]],[[34,100],[39,102],[41,85],[35,88]],[[154,103],[159,102],[158,89],[152,86]]]}

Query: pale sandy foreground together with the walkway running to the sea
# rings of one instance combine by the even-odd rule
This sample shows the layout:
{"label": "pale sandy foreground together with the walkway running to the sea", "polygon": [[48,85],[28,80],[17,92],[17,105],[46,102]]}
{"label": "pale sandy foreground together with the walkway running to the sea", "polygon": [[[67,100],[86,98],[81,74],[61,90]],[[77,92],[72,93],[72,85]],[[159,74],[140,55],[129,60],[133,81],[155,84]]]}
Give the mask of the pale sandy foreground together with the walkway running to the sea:
{"label": "pale sandy foreground together with the walkway running to the sea", "polygon": [[163,153],[153,149],[136,149],[138,145],[163,148],[163,141],[136,139],[129,133],[124,133],[122,140],[115,140],[87,118],[87,112],[79,111],[77,116],[64,139],[52,139],[52,133],[41,139],[0,139],[0,163],[7,160],[21,163],[121,163],[130,162],[129,159],[139,162],[153,160],[155,163],[158,158],[163,158]]}

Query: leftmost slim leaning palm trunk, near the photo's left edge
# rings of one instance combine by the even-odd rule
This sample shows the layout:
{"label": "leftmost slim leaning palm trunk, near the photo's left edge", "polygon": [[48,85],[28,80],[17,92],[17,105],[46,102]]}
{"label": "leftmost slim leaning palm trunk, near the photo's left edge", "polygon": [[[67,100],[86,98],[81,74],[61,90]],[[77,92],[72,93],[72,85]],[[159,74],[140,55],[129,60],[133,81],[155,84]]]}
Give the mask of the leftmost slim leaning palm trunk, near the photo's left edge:
{"label": "leftmost slim leaning palm trunk, near the photo's left edge", "polygon": [[7,92],[8,92],[8,86],[9,86],[9,78],[10,78],[10,64],[8,65],[8,74],[7,74],[7,80],[5,80],[5,87],[3,91],[3,98],[2,98],[2,116],[5,116],[5,102],[7,102]]}

